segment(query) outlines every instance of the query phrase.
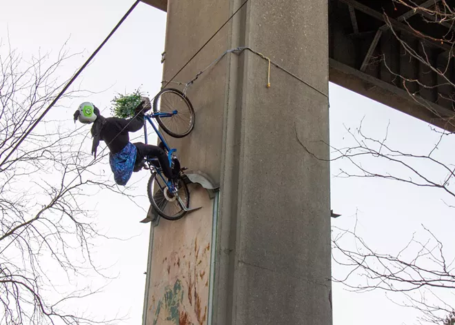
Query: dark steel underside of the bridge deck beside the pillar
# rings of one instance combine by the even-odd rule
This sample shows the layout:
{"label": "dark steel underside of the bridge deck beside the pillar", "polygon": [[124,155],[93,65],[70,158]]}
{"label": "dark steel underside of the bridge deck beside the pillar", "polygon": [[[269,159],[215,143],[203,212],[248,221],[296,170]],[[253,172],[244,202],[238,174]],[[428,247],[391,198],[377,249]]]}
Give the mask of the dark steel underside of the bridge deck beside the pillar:
{"label": "dark steel underside of the bridge deck beside the pillar", "polygon": [[[167,8],[167,0],[143,2],[163,11]],[[441,5],[441,0],[413,2],[427,9]],[[451,39],[455,26],[434,23],[434,16],[424,10],[392,0],[328,3],[330,81],[453,131],[454,51],[450,43],[439,39]]]}

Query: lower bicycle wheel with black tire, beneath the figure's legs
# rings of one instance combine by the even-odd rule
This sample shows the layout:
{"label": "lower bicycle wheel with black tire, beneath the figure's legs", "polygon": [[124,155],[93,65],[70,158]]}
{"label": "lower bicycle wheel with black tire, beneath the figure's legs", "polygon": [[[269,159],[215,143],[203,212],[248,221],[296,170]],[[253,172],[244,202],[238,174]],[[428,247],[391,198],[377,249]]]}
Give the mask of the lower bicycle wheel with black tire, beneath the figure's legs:
{"label": "lower bicycle wheel with black tire, beneath the figure's legs", "polygon": [[[174,207],[176,207],[176,206],[179,207],[179,209],[177,210],[176,213],[170,215],[166,211],[163,211],[164,210],[163,208],[168,206],[170,201],[168,201],[165,198],[165,195],[163,194],[163,191],[161,189],[154,192],[153,185],[154,185],[155,179],[157,179],[156,172],[152,173],[152,175],[150,176],[150,179],[148,180],[148,184],[147,184],[147,195],[148,195],[150,204],[152,204],[156,213],[161,215],[161,217],[163,217],[164,219],[171,220],[171,221],[181,219],[181,217],[183,217],[186,214],[186,211],[183,210],[183,208],[181,208],[178,201],[172,202],[172,204],[174,204]],[[181,197],[181,199],[185,203],[185,207],[188,208],[190,206],[190,191],[188,190],[188,186],[185,184],[183,179],[179,178],[179,194],[181,193],[181,189],[183,189],[183,194],[185,195],[185,199],[183,199],[182,197]],[[161,194],[159,194],[159,193],[161,193]],[[164,206],[163,206],[163,204],[164,204]]]}

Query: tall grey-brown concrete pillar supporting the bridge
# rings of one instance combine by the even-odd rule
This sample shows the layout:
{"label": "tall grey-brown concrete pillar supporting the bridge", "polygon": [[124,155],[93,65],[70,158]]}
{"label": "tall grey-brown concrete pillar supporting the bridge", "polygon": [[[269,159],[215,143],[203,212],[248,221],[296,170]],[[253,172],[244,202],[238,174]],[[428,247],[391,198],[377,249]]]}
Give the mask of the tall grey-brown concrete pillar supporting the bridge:
{"label": "tall grey-brown concrete pillar supporting the bridge", "polygon": [[[242,2],[169,1],[163,79],[172,77]],[[225,50],[250,46],[327,95],[327,39],[326,0],[250,0],[176,81],[192,79]],[[192,237],[207,233],[203,246],[209,242],[206,255],[212,263],[188,261],[188,268],[208,267],[197,271],[210,273],[208,298],[199,308],[208,313],[189,319],[194,299],[186,296],[193,293],[183,288],[176,306],[185,319],[170,311],[168,318],[156,317],[156,302],[165,295],[160,286],[174,292],[176,279],[185,286],[188,272],[166,279],[169,272],[155,271],[149,277],[160,277],[162,284],[149,284],[145,324],[168,324],[162,319],[172,319],[169,324],[332,324],[330,170],[304,148],[329,157],[323,144],[329,141],[328,99],[277,68],[272,67],[271,88],[266,83],[267,61],[243,52],[226,56],[188,90],[196,126],[188,137],[170,142],[183,166],[207,173],[221,191],[212,200],[213,210],[154,228],[161,232],[161,244],[152,240],[156,251],[150,264],[156,269],[165,263],[157,251],[169,247],[163,241],[184,236],[194,242]],[[211,235],[201,227],[210,228]],[[175,259],[176,254],[187,256],[168,253]]]}

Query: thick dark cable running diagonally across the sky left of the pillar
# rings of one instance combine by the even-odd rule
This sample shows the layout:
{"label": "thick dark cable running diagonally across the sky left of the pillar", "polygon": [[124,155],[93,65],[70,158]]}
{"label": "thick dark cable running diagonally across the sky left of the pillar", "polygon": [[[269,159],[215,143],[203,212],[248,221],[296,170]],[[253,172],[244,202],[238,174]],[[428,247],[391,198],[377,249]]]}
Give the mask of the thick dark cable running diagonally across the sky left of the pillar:
{"label": "thick dark cable running diagonally across the sky left of the pillar", "polygon": [[108,40],[110,39],[110,37],[112,37],[112,35],[114,35],[114,32],[117,31],[117,29],[121,26],[121,24],[123,23],[123,21],[125,21],[125,19],[130,15],[130,13],[132,12],[132,10],[134,10],[134,8],[136,8],[137,4],[141,2],[140,0],[136,0],[133,5],[131,6],[131,8],[123,15],[123,17],[120,19],[120,21],[117,23],[117,25],[114,27],[113,30],[111,30],[111,32],[109,33],[108,37],[106,37],[104,39],[104,41],[98,46],[98,48],[92,53],[92,55],[90,55],[90,57],[87,59],[87,61],[85,61],[85,63],[83,63],[83,66],[81,66],[81,68],[79,68],[79,70],[76,72],[76,74],[70,79],[70,81],[68,81],[68,83],[66,84],[66,86],[61,90],[61,92],[59,93],[59,95],[57,95],[57,97],[54,98],[54,100],[52,101],[52,103],[50,103],[50,105],[48,106],[48,108],[45,109],[45,111],[38,117],[38,119],[36,121],[34,121],[34,124],[32,124],[32,126],[27,130],[27,132],[21,137],[21,139],[19,139],[19,141],[17,142],[16,146],[14,146],[14,148],[12,148],[12,150],[8,153],[8,155],[5,157],[5,159],[3,159],[3,161],[1,162],[0,164],[0,167],[3,166],[3,164],[6,163],[6,161],[8,160],[9,157],[11,157],[11,155],[13,154],[14,151],[17,150],[17,148],[19,148],[19,146],[22,144],[23,140],[26,139],[26,137],[28,137],[28,135],[30,135],[30,132],[32,132],[32,130],[39,124],[39,122],[41,121],[41,119],[43,119],[43,117],[45,117],[46,114],[48,114],[48,112],[50,111],[50,109],[55,105],[55,103],[57,103],[57,101],[60,99],[60,97],[65,93],[66,90],[68,90],[68,88],[72,85],[72,83],[74,82],[74,80],[77,79],[77,77],[79,77],[79,75],[81,74],[81,72],[88,66],[88,63],[90,63],[90,61],[92,61],[92,59],[95,57],[95,55],[98,54],[99,50],[101,50],[101,48],[103,48],[103,46],[105,45],[105,43],[108,42]]}

